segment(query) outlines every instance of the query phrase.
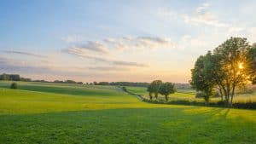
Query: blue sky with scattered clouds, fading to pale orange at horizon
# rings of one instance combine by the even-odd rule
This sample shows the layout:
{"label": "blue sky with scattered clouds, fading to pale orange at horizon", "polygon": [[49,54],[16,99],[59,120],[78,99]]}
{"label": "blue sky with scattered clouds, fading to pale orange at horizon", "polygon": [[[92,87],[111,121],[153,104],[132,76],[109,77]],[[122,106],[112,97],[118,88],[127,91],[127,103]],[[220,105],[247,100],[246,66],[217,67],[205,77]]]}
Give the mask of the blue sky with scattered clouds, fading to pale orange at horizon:
{"label": "blue sky with scattered clouds, fading to pale orange at horizon", "polygon": [[256,42],[256,1],[1,1],[0,73],[32,79],[188,83],[200,55]]}

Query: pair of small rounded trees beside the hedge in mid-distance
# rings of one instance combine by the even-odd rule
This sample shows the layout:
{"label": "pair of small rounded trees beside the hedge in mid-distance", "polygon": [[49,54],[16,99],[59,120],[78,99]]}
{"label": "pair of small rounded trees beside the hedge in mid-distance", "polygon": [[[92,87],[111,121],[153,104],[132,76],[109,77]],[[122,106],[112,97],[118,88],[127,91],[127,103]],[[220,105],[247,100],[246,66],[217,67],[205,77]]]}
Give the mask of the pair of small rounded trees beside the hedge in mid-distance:
{"label": "pair of small rounded trees beside the hedge in mid-distance", "polygon": [[148,85],[148,94],[150,100],[152,100],[153,95],[155,99],[158,99],[158,95],[165,95],[166,101],[168,101],[168,95],[175,93],[175,84],[170,82],[163,83],[161,80],[154,80]]}

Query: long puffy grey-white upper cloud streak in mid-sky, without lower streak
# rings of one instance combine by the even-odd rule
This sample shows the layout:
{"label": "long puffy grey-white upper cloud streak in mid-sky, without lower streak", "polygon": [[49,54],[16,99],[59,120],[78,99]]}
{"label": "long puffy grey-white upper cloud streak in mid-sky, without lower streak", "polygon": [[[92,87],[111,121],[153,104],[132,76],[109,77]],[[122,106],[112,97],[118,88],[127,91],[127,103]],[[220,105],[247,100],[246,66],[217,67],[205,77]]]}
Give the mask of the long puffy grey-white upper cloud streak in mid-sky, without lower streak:
{"label": "long puffy grey-white upper cloud streak in mid-sky, without lower streak", "polygon": [[87,41],[74,43],[70,49],[88,50],[99,54],[109,54],[110,50],[125,49],[161,49],[173,48],[174,44],[166,37],[107,37],[102,41]]}

